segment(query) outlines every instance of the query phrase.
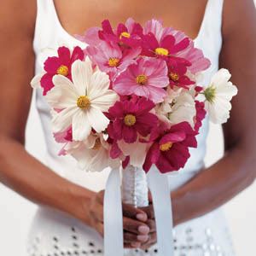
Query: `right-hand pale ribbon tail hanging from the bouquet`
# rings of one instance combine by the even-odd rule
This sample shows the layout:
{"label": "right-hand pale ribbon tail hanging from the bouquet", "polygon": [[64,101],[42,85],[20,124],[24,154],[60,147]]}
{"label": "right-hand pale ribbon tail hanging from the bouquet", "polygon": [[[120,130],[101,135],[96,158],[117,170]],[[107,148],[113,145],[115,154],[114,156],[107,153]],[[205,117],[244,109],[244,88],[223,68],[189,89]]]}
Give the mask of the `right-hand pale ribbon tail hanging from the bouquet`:
{"label": "right-hand pale ribbon tail hanging from the bouquet", "polygon": [[173,256],[172,201],[168,178],[160,174],[155,166],[148,172],[148,187],[151,190],[157,230],[158,250],[161,256]]}

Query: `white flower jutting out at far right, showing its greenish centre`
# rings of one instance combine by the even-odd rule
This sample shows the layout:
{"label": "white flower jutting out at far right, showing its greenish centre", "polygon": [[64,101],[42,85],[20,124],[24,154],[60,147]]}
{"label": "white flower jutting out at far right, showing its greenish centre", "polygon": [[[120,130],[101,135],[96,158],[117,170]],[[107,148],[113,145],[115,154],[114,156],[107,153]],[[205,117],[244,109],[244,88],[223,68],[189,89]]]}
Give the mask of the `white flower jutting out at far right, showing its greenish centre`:
{"label": "white flower jutting out at far right, showing its greenish centre", "polygon": [[230,118],[230,101],[237,94],[236,85],[230,82],[230,77],[227,69],[220,69],[203,92],[205,108],[214,124],[224,124]]}

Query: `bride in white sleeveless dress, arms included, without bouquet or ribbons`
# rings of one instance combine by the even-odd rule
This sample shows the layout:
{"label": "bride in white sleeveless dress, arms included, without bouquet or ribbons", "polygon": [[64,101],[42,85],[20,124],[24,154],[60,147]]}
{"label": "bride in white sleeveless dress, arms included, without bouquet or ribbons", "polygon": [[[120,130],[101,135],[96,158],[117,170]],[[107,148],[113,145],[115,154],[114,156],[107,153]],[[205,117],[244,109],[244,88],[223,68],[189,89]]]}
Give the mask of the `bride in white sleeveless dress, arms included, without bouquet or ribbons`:
{"label": "bride in white sleeveless dress, arms included, without bouquet or ribbons", "polygon": [[[212,62],[203,84],[218,68],[230,69],[239,87],[224,125],[225,154],[206,169],[208,122],[198,148],[170,182],[175,256],[234,256],[221,206],[253,183],[256,164],[256,15],[253,0],[2,0],[0,10],[0,180],[38,203],[28,237],[28,256],[103,255],[103,195],[109,170],[84,173],[57,154],[49,106],[37,90],[44,130],[44,163],[24,148],[34,73],[44,68],[42,50],[85,44],[73,37],[106,18],[113,24],[132,17],[140,23],[160,18],[165,26],[194,38]],[[216,138],[218,139],[218,138]],[[40,145],[38,145],[40,147]],[[153,205],[123,204],[126,255],[157,255]],[[113,255],[119,256],[119,255]]]}

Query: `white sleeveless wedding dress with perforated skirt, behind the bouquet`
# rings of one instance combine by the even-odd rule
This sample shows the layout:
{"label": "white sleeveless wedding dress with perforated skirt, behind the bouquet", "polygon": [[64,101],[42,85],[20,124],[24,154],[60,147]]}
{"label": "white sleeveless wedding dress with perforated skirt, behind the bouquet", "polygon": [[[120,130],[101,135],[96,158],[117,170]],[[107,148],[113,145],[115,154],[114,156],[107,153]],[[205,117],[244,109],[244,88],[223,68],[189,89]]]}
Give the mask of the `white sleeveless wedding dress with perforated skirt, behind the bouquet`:
{"label": "white sleeveless wedding dress with perforated skirt, behind the bouquet", "polygon": [[[205,73],[207,84],[212,73],[218,70],[218,55],[222,45],[221,24],[224,0],[208,0],[200,32],[195,46],[201,48],[212,61],[212,67]],[[36,73],[43,69],[42,49],[57,48],[59,44],[84,44],[68,34],[58,19],[52,0],[38,0],[38,15],[34,36]],[[104,189],[109,170],[101,173],[81,172],[71,157],[58,156],[61,145],[52,136],[49,107],[36,91],[36,104],[44,130],[47,154],[44,164],[62,177],[85,188],[98,191]],[[198,148],[191,149],[191,158],[177,177],[170,177],[170,189],[177,189],[186,183],[204,165],[208,122],[204,122],[198,136]],[[174,230],[175,256],[234,256],[226,221],[220,209],[178,225]],[[146,251],[133,250],[126,255],[158,255],[157,246]],[[28,237],[28,256],[103,255],[103,241],[95,230],[64,213],[47,207],[39,207],[32,222]],[[113,255],[120,256],[120,255]],[[171,256],[171,255],[170,255]]]}

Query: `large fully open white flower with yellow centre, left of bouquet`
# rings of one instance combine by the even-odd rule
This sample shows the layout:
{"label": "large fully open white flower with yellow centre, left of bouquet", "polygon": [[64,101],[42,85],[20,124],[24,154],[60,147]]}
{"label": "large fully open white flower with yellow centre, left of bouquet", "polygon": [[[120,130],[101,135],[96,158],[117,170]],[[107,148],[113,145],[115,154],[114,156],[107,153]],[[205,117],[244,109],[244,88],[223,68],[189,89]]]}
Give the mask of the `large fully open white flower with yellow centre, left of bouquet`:
{"label": "large fully open white flower with yellow centre, left of bouquet", "polygon": [[91,61],[74,61],[73,82],[62,75],[55,75],[55,87],[45,96],[49,105],[60,112],[53,115],[53,131],[59,132],[72,125],[73,140],[82,141],[90,135],[91,128],[104,131],[109,123],[104,115],[118,96],[109,90],[107,73],[93,71]]}

